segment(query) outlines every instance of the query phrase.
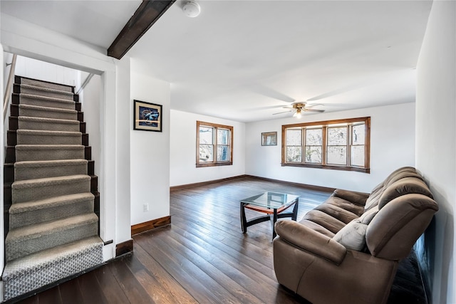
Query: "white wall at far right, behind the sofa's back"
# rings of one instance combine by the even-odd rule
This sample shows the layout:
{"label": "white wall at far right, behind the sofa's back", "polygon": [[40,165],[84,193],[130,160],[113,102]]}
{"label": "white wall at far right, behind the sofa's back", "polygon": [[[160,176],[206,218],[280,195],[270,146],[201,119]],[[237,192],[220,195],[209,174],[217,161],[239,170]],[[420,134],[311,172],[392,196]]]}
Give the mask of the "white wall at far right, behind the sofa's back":
{"label": "white wall at far right, behind the sofa's back", "polygon": [[434,1],[418,59],[416,167],[440,210],[417,243],[432,303],[456,303],[456,2]]}

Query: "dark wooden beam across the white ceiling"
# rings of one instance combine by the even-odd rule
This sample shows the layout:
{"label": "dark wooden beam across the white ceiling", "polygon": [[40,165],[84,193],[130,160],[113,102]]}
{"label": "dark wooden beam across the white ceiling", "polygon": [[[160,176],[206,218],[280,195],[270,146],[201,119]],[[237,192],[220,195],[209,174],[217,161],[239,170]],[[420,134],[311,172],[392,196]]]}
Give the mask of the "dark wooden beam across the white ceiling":
{"label": "dark wooden beam across the white ceiling", "polygon": [[108,56],[122,58],[175,1],[142,1],[135,14],[108,48]]}

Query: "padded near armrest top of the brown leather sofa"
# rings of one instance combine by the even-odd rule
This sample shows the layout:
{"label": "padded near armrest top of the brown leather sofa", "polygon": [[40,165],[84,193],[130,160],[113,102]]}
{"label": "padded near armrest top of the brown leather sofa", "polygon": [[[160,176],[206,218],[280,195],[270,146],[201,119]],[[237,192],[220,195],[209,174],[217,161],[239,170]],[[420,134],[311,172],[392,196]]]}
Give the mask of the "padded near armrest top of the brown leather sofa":
{"label": "padded near armrest top of the brown leather sofa", "polygon": [[346,256],[347,249],[343,245],[296,221],[277,221],[275,229],[281,239],[336,265]]}

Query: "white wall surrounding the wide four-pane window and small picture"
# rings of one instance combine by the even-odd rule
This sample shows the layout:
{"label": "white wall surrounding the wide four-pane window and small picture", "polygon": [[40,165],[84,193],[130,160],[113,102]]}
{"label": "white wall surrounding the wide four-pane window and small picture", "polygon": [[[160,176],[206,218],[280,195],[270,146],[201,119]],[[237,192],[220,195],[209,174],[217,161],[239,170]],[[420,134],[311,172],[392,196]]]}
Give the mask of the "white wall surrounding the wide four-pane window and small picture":
{"label": "white wall surrounding the wide four-pane window and small picture", "polygon": [[[331,169],[281,167],[281,126],[298,122],[371,117],[371,174]],[[277,132],[276,146],[261,146],[261,132]],[[246,125],[246,174],[287,182],[371,192],[390,172],[415,164],[415,104],[304,115],[301,120]]]}

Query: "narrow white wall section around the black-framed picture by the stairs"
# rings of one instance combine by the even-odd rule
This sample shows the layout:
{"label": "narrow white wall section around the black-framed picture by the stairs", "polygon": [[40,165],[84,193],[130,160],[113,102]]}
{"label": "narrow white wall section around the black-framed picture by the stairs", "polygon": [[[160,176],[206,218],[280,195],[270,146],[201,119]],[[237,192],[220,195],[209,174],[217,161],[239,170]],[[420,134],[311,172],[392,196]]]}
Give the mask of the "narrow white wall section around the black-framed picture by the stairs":
{"label": "narrow white wall section around the black-framed picture by the stairs", "polygon": [[[124,113],[131,128],[131,225],[170,215],[170,83],[135,73],[137,68],[132,59],[130,112]],[[133,100],[162,105],[162,132],[133,130]]]}

